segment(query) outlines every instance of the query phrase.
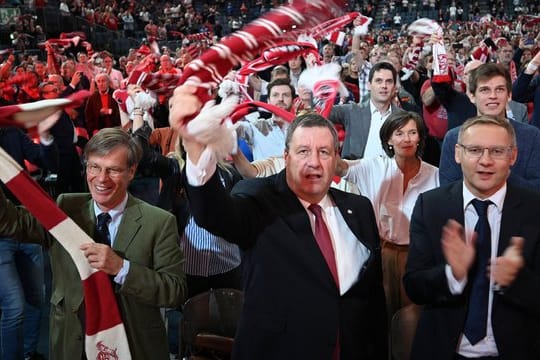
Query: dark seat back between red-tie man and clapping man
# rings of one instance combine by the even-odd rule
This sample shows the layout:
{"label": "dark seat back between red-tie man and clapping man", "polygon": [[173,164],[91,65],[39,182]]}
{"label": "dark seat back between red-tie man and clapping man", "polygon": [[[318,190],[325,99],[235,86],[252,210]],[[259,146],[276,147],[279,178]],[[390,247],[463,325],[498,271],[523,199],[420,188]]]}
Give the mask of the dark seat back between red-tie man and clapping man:
{"label": "dark seat back between red-tie man and clapping man", "polygon": [[421,306],[410,304],[399,309],[392,317],[390,329],[392,360],[409,360],[421,311]]}

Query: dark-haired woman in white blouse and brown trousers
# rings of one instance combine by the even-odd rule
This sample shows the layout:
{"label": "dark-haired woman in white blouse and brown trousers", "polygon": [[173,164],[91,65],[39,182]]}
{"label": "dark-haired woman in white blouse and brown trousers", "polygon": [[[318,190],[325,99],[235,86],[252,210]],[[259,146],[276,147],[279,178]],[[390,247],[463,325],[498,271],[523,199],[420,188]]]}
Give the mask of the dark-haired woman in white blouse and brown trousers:
{"label": "dark-haired woman in white blouse and brown trousers", "polygon": [[381,237],[389,319],[410,304],[401,279],[409,248],[409,222],[418,195],[439,186],[438,169],[421,156],[427,131],[415,112],[393,112],[379,132],[386,156],[341,160],[338,175],[371,200]]}

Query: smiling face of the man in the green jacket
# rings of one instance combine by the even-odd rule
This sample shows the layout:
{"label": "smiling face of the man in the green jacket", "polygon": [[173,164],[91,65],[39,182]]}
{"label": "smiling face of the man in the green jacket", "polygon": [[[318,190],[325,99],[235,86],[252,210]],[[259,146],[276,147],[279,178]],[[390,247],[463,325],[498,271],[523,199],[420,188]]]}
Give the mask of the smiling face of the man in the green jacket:
{"label": "smiling face of the man in the green jacket", "polygon": [[[97,175],[88,171],[99,168]],[[128,149],[124,146],[113,148],[107,155],[89,154],[87,159],[86,182],[92,198],[103,211],[118,206],[127,194],[127,188],[136,166],[128,166]]]}

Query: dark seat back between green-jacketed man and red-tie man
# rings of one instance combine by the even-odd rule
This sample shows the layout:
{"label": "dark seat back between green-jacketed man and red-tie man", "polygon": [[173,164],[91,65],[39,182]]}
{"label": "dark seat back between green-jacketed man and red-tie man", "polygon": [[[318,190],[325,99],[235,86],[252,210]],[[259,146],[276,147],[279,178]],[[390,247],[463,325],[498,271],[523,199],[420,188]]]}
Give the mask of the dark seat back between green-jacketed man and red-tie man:
{"label": "dark seat back between green-jacketed man and red-tie man", "polygon": [[227,358],[243,303],[243,292],[236,289],[211,289],[188,299],[181,322],[183,351]]}

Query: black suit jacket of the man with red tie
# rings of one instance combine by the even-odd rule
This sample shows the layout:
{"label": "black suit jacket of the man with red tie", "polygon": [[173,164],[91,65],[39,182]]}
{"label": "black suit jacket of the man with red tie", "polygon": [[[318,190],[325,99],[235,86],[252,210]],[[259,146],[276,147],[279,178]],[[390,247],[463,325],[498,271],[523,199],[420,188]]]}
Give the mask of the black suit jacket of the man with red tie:
{"label": "black suit jacket of the man with red tie", "polygon": [[231,195],[217,173],[187,186],[197,223],[245,249],[245,302],[235,359],[384,359],[386,313],[379,236],[365,197],[330,189],[351,231],[371,251],[355,285],[340,296],[309,217],[285,172],[239,182]]}

